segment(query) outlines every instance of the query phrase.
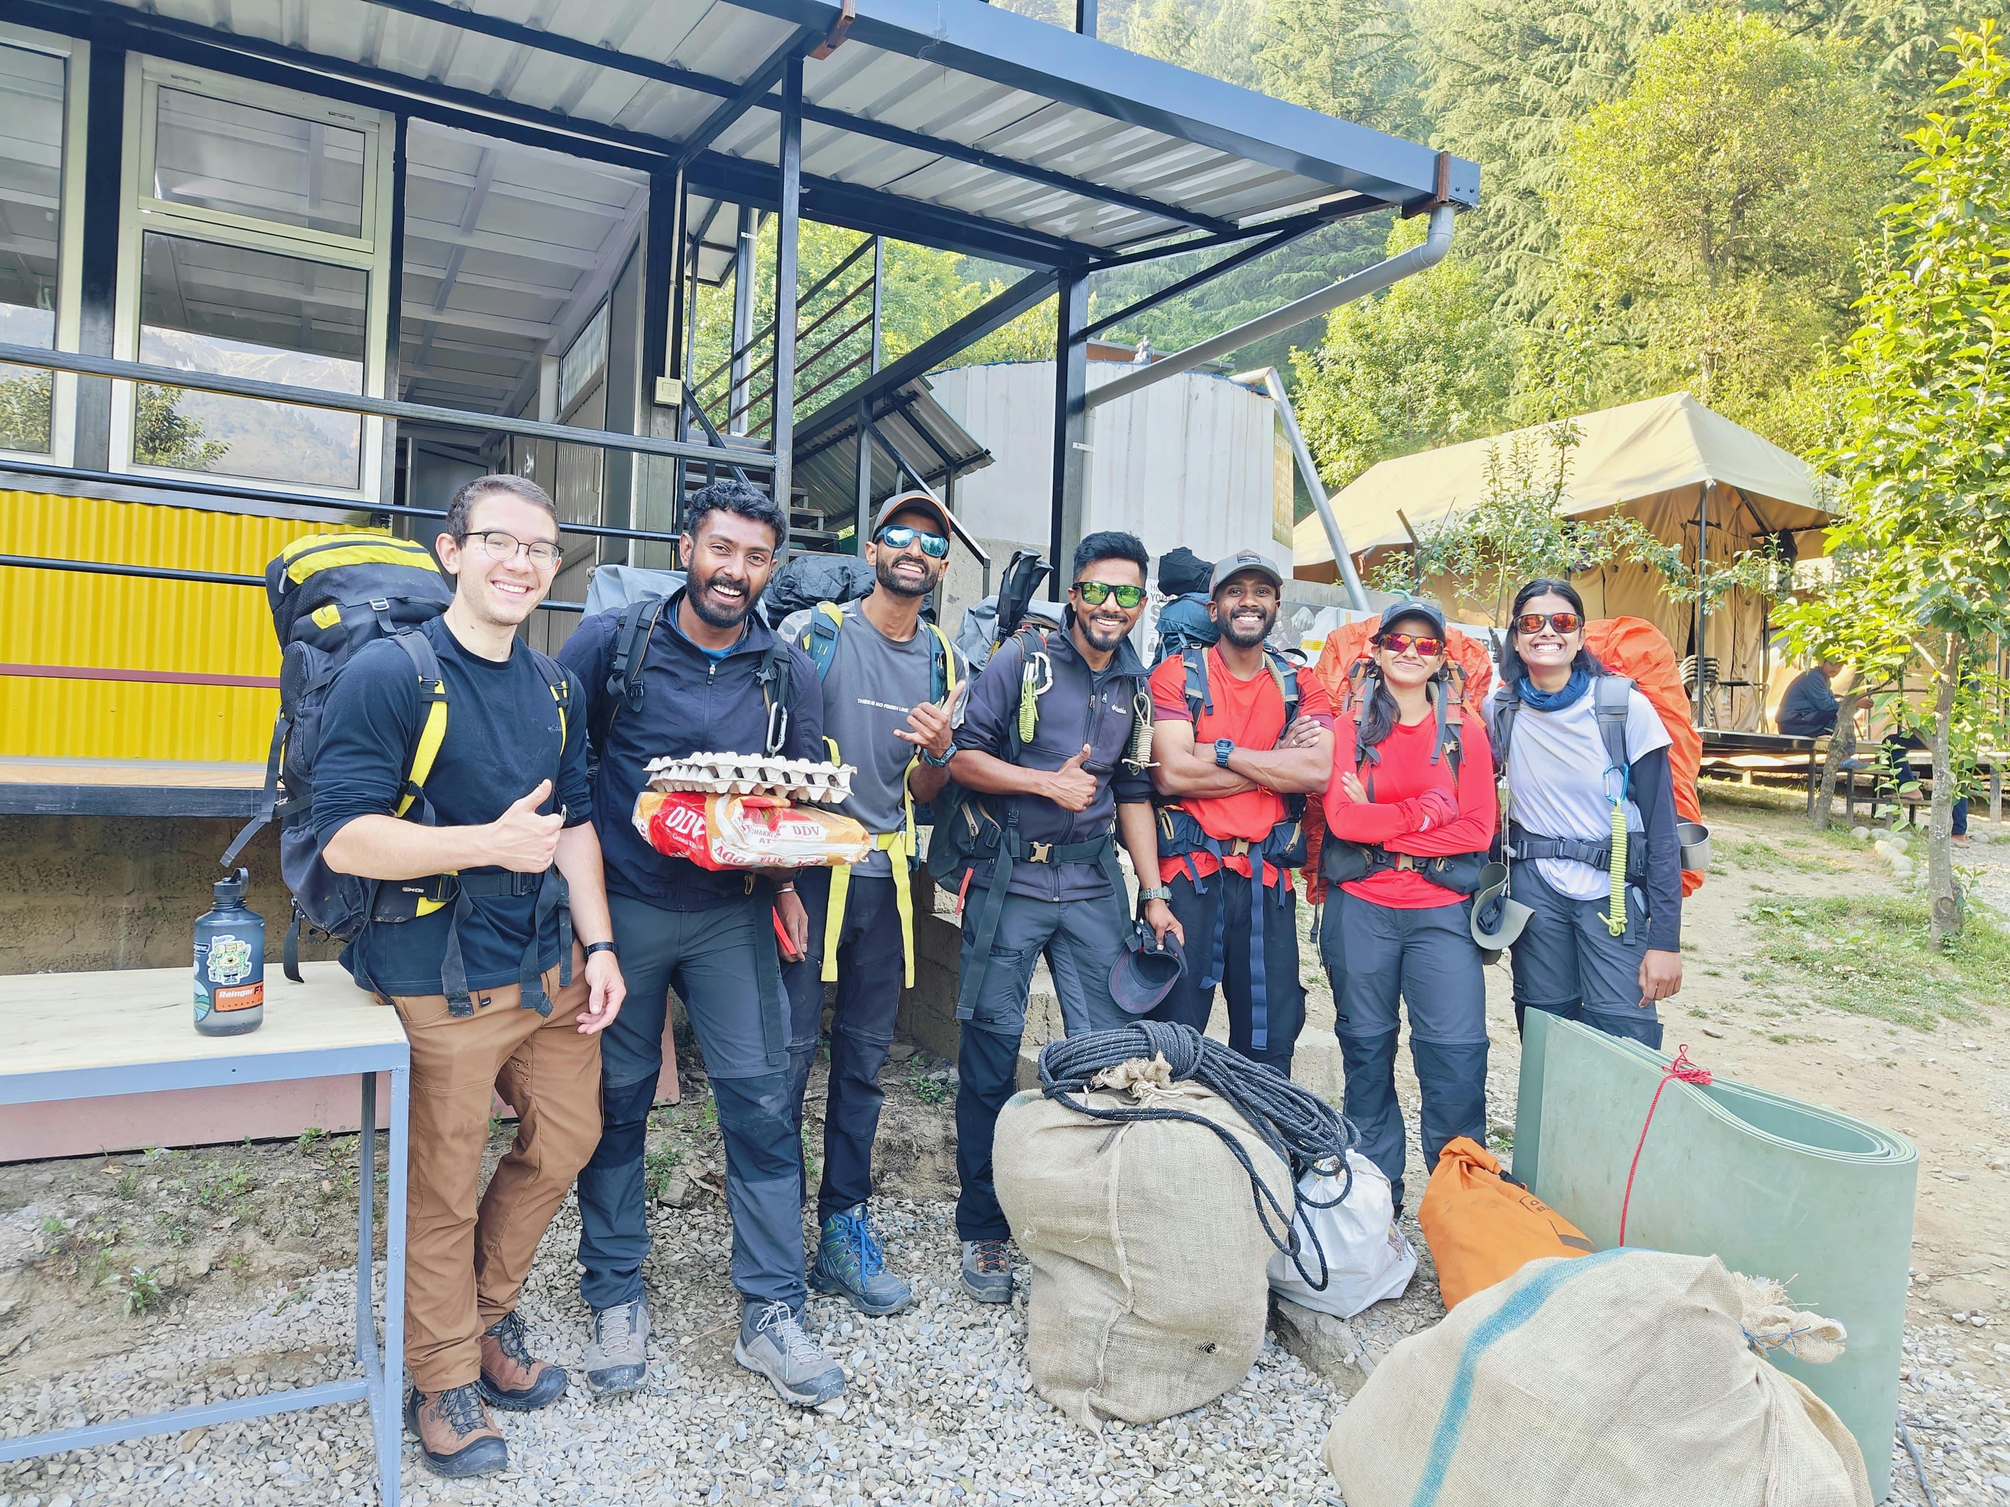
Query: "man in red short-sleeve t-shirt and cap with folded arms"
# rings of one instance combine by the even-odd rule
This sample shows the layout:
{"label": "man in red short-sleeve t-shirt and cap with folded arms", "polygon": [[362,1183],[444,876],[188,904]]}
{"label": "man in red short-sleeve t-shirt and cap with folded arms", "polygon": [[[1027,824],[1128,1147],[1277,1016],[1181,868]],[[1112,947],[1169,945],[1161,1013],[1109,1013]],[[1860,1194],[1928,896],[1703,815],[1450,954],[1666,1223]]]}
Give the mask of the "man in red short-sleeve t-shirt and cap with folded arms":
{"label": "man in red short-sleeve t-shirt and cap with folded arms", "polygon": [[[1264,649],[1282,589],[1284,577],[1264,557],[1230,555],[1208,583],[1220,641],[1152,671],[1158,868],[1186,930],[1186,975],[1150,1019],[1206,1031],[1220,983],[1228,1045],[1290,1077],[1304,1025],[1298,906],[1290,870],[1274,858],[1296,846],[1284,798],[1327,788],[1333,705],[1317,679],[1298,675],[1298,715],[1284,727],[1282,687],[1296,671]],[[1188,673],[1190,659],[1198,677]],[[1200,681],[1198,707],[1188,699],[1192,679]]]}

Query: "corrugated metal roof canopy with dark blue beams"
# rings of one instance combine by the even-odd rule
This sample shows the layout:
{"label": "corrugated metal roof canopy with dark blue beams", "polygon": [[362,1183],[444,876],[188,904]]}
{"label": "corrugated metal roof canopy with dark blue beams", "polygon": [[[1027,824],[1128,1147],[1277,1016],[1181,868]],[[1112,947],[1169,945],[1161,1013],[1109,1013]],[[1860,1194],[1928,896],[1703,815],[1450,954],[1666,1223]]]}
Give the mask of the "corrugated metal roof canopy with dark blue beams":
{"label": "corrugated metal roof canopy with dark blue beams", "polygon": [[[137,30],[199,32],[599,139],[657,171],[681,159],[693,191],[762,203],[778,193],[778,60],[832,36],[844,6],[119,0],[117,12]],[[814,219],[1093,265],[1311,205],[1413,209],[1437,193],[1437,155],[977,0],[856,0],[842,44],[804,66],[802,175]],[[1455,161],[1447,197],[1473,203],[1477,187],[1479,169]]]}

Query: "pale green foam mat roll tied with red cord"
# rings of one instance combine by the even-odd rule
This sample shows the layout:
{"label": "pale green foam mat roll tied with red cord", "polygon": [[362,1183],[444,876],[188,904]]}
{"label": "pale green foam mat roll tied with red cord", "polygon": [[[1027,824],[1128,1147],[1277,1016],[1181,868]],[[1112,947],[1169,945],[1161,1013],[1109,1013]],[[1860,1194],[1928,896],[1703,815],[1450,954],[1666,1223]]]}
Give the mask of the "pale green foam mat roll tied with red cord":
{"label": "pale green foam mat roll tied with red cord", "polygon": [[[1618,1244],[1626,1169],[1668,1061],[1526,1015],[1514,1175],[1600,1250]],[[1775,1362],[1855,1435],[1875,1501],[1891,1491],[1918,1179],[1912,1143],[1869,1121],[1723,1077],[1670,1081],[1626,1210],[1628,1246],[1719,1256],[1843,1324],[1839,1360]]]}

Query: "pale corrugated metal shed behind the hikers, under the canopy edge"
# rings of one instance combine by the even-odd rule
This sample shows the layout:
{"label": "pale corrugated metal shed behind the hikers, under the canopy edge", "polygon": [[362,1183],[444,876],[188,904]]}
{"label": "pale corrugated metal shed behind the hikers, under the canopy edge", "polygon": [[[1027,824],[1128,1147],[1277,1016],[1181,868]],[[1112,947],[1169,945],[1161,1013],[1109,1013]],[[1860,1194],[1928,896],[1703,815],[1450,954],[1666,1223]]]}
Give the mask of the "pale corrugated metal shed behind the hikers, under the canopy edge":
{"label": "pale corrugated metal shed behind the hikers, under the canopy edge", "polygon": [[[1128,366],[1089,364],[1089,388]],[[997,464],[957,482],[957,516],[985,541],[1047,551],[1053,496],[1053,362],[959,366],[931,378],[935,396]],[[1290,575],[1278,541],[1278,482],[1290,456],[1260,392],[1182,372],[1093,410],[1081,530],[1126,528],[1156,561],[1176,545],[1202,559],[1254,549]],[[1286,502],[1286,518],[1288,502]]]}

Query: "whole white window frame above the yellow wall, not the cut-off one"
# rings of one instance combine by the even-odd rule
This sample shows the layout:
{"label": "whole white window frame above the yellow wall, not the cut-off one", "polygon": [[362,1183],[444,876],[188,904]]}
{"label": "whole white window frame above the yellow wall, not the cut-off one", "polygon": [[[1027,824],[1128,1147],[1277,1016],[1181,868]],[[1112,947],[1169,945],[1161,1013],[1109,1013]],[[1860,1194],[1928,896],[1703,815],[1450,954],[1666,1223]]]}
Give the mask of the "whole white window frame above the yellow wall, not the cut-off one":
{"label": "whole white window frame above the yellow wall, not the cut-off one", "polygon": [[[213,245],[269,251],[275,255],[318,261],[330,267],[362,271],[364,291],[364,378],[362,396],[386,394],[386,328],[394,311],[388,307],[390,241],[392,241],[392,153],[396,149],[396,119],[388,111],[372,111],[338,100],[318,98],[291,88],[263,84],[213,68],[193,68],[165,58],[131,54],[125,76],[125,149],[119,213],[119,285],[113,321],[115,350],[129,362],[139,360],[141,279],[147,235],[171,235]],[[249,104],[301,121],[318,121],[364,137],[362,235],[316,231],[304,225],[261,221],[249,215],[185,205],[153,195],[155,133],[159,125],[161,90],[173,88],[231,104]],[[267,400],[253,400],[267,402]],[[191,472],[175,466],[147,466],[133,456],[137,384],[113,384],[111,468],[135,476],[209,476],[239,480],[251,486],[271,486],[273,478],[237,476],[229,470]],[[279,478],[277,484],[308,496],[332,500],[378,502],[386,492],[384,424],[374,414],[362,414],[358,436],[356,486],[324,486],[299,478]]]}

